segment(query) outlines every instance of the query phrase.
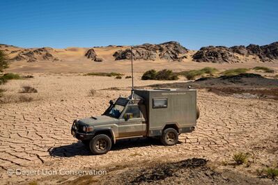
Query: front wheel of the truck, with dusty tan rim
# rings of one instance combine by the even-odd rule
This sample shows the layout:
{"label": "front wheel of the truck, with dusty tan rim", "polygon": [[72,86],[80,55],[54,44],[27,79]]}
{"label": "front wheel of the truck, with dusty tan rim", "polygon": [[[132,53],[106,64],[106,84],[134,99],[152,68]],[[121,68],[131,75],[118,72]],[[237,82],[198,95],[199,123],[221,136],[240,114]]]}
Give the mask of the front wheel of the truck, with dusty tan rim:
{"label": "front wheel of the truck, with dusty tan rim", "polygon": [[90,150],[93,154],[106,154],[111,149],[111,138],[105,134],[99,134],[92,138],[89,143]]}

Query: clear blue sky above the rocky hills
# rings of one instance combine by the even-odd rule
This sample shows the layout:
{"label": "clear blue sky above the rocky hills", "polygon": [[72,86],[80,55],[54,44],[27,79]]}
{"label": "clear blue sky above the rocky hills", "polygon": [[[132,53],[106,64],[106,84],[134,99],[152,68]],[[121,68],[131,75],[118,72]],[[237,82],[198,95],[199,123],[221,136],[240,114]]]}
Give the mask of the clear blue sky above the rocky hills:
{"label": "clear blue sky above the rocky hills", "polygon": [[20,47],[139,45],[189,49],[278,41],[278,1],[0,1],[0,43]]}

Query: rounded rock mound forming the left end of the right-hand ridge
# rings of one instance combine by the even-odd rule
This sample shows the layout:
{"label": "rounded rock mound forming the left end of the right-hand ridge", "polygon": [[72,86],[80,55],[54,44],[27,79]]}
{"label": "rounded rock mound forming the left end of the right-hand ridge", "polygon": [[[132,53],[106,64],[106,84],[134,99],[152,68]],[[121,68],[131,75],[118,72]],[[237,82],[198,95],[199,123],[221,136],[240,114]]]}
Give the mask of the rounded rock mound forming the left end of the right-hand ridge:
{"label": "rounded rock mound forming the left end of the right-hand ridge", "polygon": [[193,55],[196,62],[211,62],[211,63],[238,63],[239,58],[233,54],[233,51],[228,47],[201,47],[196,54]]}

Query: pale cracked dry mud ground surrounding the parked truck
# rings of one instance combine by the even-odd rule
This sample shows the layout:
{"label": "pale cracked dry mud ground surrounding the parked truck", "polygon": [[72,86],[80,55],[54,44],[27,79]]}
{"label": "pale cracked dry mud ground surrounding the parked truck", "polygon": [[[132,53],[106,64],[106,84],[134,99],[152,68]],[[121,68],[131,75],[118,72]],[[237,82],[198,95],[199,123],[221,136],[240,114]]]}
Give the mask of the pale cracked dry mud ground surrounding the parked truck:
{"label": "pale cracked dry mud ground surrounding the parked truck", "polygon": [[[35,74],[34,79],[9,81],[7,95],[16,97],[22,85],[38,89],[35,101],[0,105],[0,183],[29,182],[43,176],[7,175],[6,170],[109,169],[144,161],[203,157],[231,159],[249,152],[258,166],[273,166],[278,159],[278,101],[238,99],[198,91],[201,116],[196,130],[181,134],[178,145],[165,147],[157,140],[132,139],[117,143],[100,156],[91,155],[70,134],[76,118],[100,115],[109,99],[129,95],[129,79],[83,77],[76,74]],[[140,81],[137,86],[169,81]],[[118,87],[120,90],[102,90]],[[88,96],[95,89],[93,97]],[[52,177],[50,177],[52,178]],[[55,179],[53,177],[53,179]],[[57,177],[57,179],[59,179]],[[58,180],[57,180],[58,181]],[[55,182],[55,181],[54,181]]]}

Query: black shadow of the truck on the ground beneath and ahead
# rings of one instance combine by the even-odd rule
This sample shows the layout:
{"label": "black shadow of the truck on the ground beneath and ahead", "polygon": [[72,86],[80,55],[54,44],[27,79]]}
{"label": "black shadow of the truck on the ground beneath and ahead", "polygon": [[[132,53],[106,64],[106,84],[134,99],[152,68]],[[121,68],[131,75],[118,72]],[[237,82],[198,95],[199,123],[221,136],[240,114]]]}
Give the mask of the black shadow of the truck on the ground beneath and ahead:
{"label": "black shadow of the truck on the ground beneath and ahead", "polygon": [[[124,150],[132,147],[147,147],[150,145],[162,145],[159,139],[155,138],[131,138],[119,140],[111,147],[111,150]],[[90,149],[80,142],[71,145],[52,147],[48,150],[50,156],[72,157],[92,155]]]}

